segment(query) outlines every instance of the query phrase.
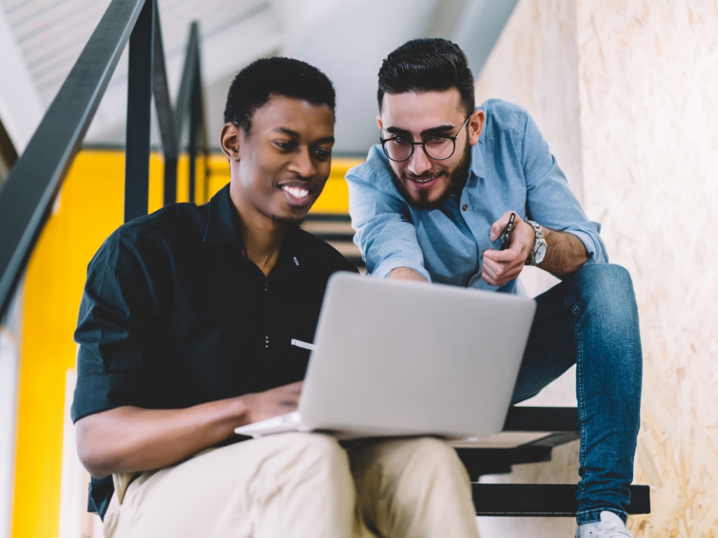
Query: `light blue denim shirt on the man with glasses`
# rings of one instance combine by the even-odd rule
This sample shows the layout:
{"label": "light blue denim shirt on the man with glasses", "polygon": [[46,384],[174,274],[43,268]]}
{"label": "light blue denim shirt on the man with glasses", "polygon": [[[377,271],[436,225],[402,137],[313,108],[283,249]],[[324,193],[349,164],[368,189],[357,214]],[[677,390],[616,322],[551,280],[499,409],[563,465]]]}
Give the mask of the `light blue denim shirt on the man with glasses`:
{"label": "light blue denim shirt on the man with glasses", "polygon": [[415,209],[404,201],[378,144],[348,171],[354,241],[368,272],[386,278],[407,267],[433,282],[516,293],[516,280],[495,287],[480,278],[481,253],[500,245],[489,239],[491,225],[509,210],[571,232],[586,245],[587,263],[607,263],[601,225],[586,217],[531,116],[498,99],[479,108],[486,121],[471,149],[466,187],[439,209]]}

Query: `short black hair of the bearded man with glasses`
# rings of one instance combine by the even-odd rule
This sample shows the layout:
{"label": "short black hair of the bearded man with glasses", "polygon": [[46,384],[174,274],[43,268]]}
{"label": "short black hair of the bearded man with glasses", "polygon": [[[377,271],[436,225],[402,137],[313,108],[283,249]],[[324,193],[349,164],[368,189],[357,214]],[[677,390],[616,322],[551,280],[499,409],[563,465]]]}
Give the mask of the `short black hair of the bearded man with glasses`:
{"label": "short black hair of the bearded man with glasses", "polygon": [[382,62],[376,98],[381,112],[385,93],[445,92],[451,88],[459,90],[466,115],[470,115],[475,105],[474,75],[464,51],[449,39],[412,39]]}

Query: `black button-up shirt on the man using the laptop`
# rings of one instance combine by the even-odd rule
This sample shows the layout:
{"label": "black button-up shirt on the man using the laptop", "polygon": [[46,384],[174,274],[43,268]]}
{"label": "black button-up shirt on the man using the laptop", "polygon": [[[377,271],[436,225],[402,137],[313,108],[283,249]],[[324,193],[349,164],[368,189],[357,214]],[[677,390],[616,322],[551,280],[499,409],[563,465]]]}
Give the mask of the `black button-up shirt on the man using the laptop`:
{"label": "black button-up shirt on the man using the laptop", "polygon": [[[123,405],[177,409],[299,381],[327,279],[357,269],[292,225],[269,276],[249,260],[225,187],[123,225],[88,266],[73,420]],[[111,477],[93,479],[101,514]]]}

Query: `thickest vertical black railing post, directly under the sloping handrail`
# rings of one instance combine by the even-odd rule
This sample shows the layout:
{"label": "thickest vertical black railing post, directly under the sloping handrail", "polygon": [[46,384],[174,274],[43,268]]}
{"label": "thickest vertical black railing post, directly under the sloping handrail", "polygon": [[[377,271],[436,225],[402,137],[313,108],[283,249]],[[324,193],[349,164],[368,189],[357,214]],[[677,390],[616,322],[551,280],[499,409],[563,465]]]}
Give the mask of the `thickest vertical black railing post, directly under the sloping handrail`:
{"label": "thickest vertical black railing post, directly under the sloping handrail", "polygon": [[155,2],[146,0],[130,37],[125,150],[125,222],[147,214]]}

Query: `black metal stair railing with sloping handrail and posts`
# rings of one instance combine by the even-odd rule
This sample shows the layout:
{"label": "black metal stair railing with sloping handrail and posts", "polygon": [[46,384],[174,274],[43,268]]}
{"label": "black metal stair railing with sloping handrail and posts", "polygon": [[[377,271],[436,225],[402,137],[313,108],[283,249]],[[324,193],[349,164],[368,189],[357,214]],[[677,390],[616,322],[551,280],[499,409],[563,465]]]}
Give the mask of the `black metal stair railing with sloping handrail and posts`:
{"label": "black metal stair railing with sloping handrail and posts", "polygon": [[[182,75],[183,85],[187,86],[185,79],[190,81],[187,82],[189,90],[180,91],[177,109],[173,111],[169,103],[157,0],[112,0],[0,190],[0,316],[9,305],[128,41],[131,44],[125,216],[147,212],[149,103],[153,93],[165,166],[170,170],[165,172],[168,191],[165,203],[174,202],[182,118],[189,108],[185,103],[188,100],[202,102],[197,25],[192,24]],[[190,121],[190,127],[194,126],[196,132],[190,133],[190,141],[193,137],[196,140],[197,133],[203,130],[204,115],[201,110],[195,114],[197,121]],[[174,183],[169,184],[168,176],[174,177]],[[168,198],[168,194],[172,197]]]}

